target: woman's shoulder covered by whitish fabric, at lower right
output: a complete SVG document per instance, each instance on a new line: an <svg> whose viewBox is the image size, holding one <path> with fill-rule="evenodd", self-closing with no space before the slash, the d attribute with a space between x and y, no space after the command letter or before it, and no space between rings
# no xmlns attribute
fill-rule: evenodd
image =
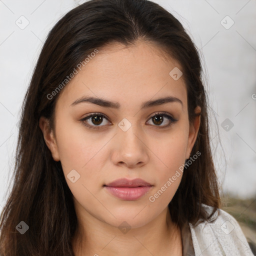
<svg viewBox="0 0 256 256"><path fill-rule="evenodd" d="M202 206L207 212L212 211L211 206L205 204ZM195 226L189 223L195 256L253 256L246 238L233 216L218 209L212 219L215 220L203 221Z"/></svg>

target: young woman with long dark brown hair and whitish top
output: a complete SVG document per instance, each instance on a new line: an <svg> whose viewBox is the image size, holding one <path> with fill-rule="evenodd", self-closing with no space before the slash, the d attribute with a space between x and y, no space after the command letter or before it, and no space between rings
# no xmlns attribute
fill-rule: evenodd
<svg viewBox="0 0 256 256"><path fill-rule="evenodd" d="M0 254L252 255L219 209L196 48L145 0L52 28L26 92Z"/></svg>

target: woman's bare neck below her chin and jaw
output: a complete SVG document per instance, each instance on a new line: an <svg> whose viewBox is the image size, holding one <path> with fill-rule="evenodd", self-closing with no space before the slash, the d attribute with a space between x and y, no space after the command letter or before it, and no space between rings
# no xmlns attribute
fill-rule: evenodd
<svg viewBox="0 0 256 256"><path fill-rule="evenodd" d="M79 228L72 242L75 256L182 254L180 229L172 222L167 207L151 222L126 233L95 218L86 225L77 220Z"/></svg>

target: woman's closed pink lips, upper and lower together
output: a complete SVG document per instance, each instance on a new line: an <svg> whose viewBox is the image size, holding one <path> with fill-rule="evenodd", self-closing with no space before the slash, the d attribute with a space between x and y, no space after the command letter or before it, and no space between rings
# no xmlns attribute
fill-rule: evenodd
<svg viewBox="0 0 256 256"><path fill-rule="evenodd" d="M120 178L104 185L108 192L123 200L136 200L149 191L151 187L150 183L140 178Z"/></svg>

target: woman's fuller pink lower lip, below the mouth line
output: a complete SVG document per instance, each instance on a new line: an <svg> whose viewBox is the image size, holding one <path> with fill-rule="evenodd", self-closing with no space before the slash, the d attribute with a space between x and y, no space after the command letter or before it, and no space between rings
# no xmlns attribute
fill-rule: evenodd
<svg viewBox="0 0 256 256"><path fill-rule="evenodd" d="M136 200L150 190L152 186L136 186L136 187L114 187L104 186L112 195L123 200Z"/></svg>

